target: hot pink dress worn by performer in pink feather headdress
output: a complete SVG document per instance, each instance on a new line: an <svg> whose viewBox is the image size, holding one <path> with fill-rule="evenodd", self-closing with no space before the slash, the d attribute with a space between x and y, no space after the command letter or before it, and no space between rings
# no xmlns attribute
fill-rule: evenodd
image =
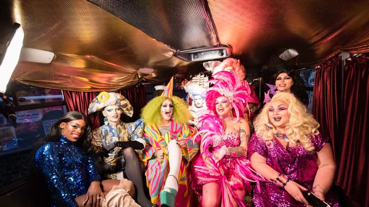
<svg viewBox="0 0 369 207"><path fill-rule="evenodd" d="M240 134L233 131L220 136L213 136L209 145L209 152L212 153L223 145L235 147L240 145ZM207 154L205 154L207 156ZM209 159L210 156L207 156ZM207 158L207 160L209 160ZM213 165L214 166L214 165ZM237 206L246 206L236 194L236 190L246 190L250 193L252 186L250 181L255 181L257 177L252 169L250 161L246 157L224 156L215 167L206 165L201 154L199 154L192 163L191 181L195 192L202 195L204 184L215 182L221 185L222 206L232 206L232 200L235 200ZM256 178L258 179L258 178Z"/></svg>

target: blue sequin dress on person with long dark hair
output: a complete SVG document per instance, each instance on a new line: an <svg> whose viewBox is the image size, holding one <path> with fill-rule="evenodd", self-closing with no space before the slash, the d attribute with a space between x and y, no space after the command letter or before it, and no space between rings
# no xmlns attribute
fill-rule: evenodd
<svg viewBox="0 0 369 207"><path fill-rule="evenodd" d="M100 181L91 157L63 135L36 151L35 167L47 182L53 206L78 206L74 198L86 194L92 181Z"/></svg>

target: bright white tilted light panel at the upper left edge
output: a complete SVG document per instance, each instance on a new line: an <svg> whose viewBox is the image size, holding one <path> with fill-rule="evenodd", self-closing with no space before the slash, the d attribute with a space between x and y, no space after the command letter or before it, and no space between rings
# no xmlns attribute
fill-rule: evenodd
<svg viewBox="0 0 369 207"><path fill-rule="evenodd" d="M10 77L17 66L25 33L21 24L14 23L12 35L0 55L0 92L5 93Z"/></svg>

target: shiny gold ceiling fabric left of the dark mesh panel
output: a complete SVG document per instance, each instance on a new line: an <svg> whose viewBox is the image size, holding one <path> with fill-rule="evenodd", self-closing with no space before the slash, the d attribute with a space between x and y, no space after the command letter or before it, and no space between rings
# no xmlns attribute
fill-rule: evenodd
<svg viewBox="0 0 369 207"><path fill-rule="evenodd" d="M10 15L3 28L11 28L12 21L21 23L25 47L56 54L50 64L20 61L12 80L22 83L118 90L141 79L164 80L188 64L173 56L174 49L86 0L4 0L0 11ZM154 72L143 76L136 72L141 67Z"/></svg>

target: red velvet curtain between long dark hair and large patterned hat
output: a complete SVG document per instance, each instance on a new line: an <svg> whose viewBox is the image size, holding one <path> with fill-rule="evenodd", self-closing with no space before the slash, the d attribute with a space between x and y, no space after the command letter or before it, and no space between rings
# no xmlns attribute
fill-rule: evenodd
<svg viewBox="0 0 369 207"><path fill-rule="evenodd" d="M87 109L90 102L96 97L95 92L63 90L63 94L68 111L80 111L85 115L87 115ZM98 113L87 115L87 117L90 120L91 129L100 126Z"/></svg>

